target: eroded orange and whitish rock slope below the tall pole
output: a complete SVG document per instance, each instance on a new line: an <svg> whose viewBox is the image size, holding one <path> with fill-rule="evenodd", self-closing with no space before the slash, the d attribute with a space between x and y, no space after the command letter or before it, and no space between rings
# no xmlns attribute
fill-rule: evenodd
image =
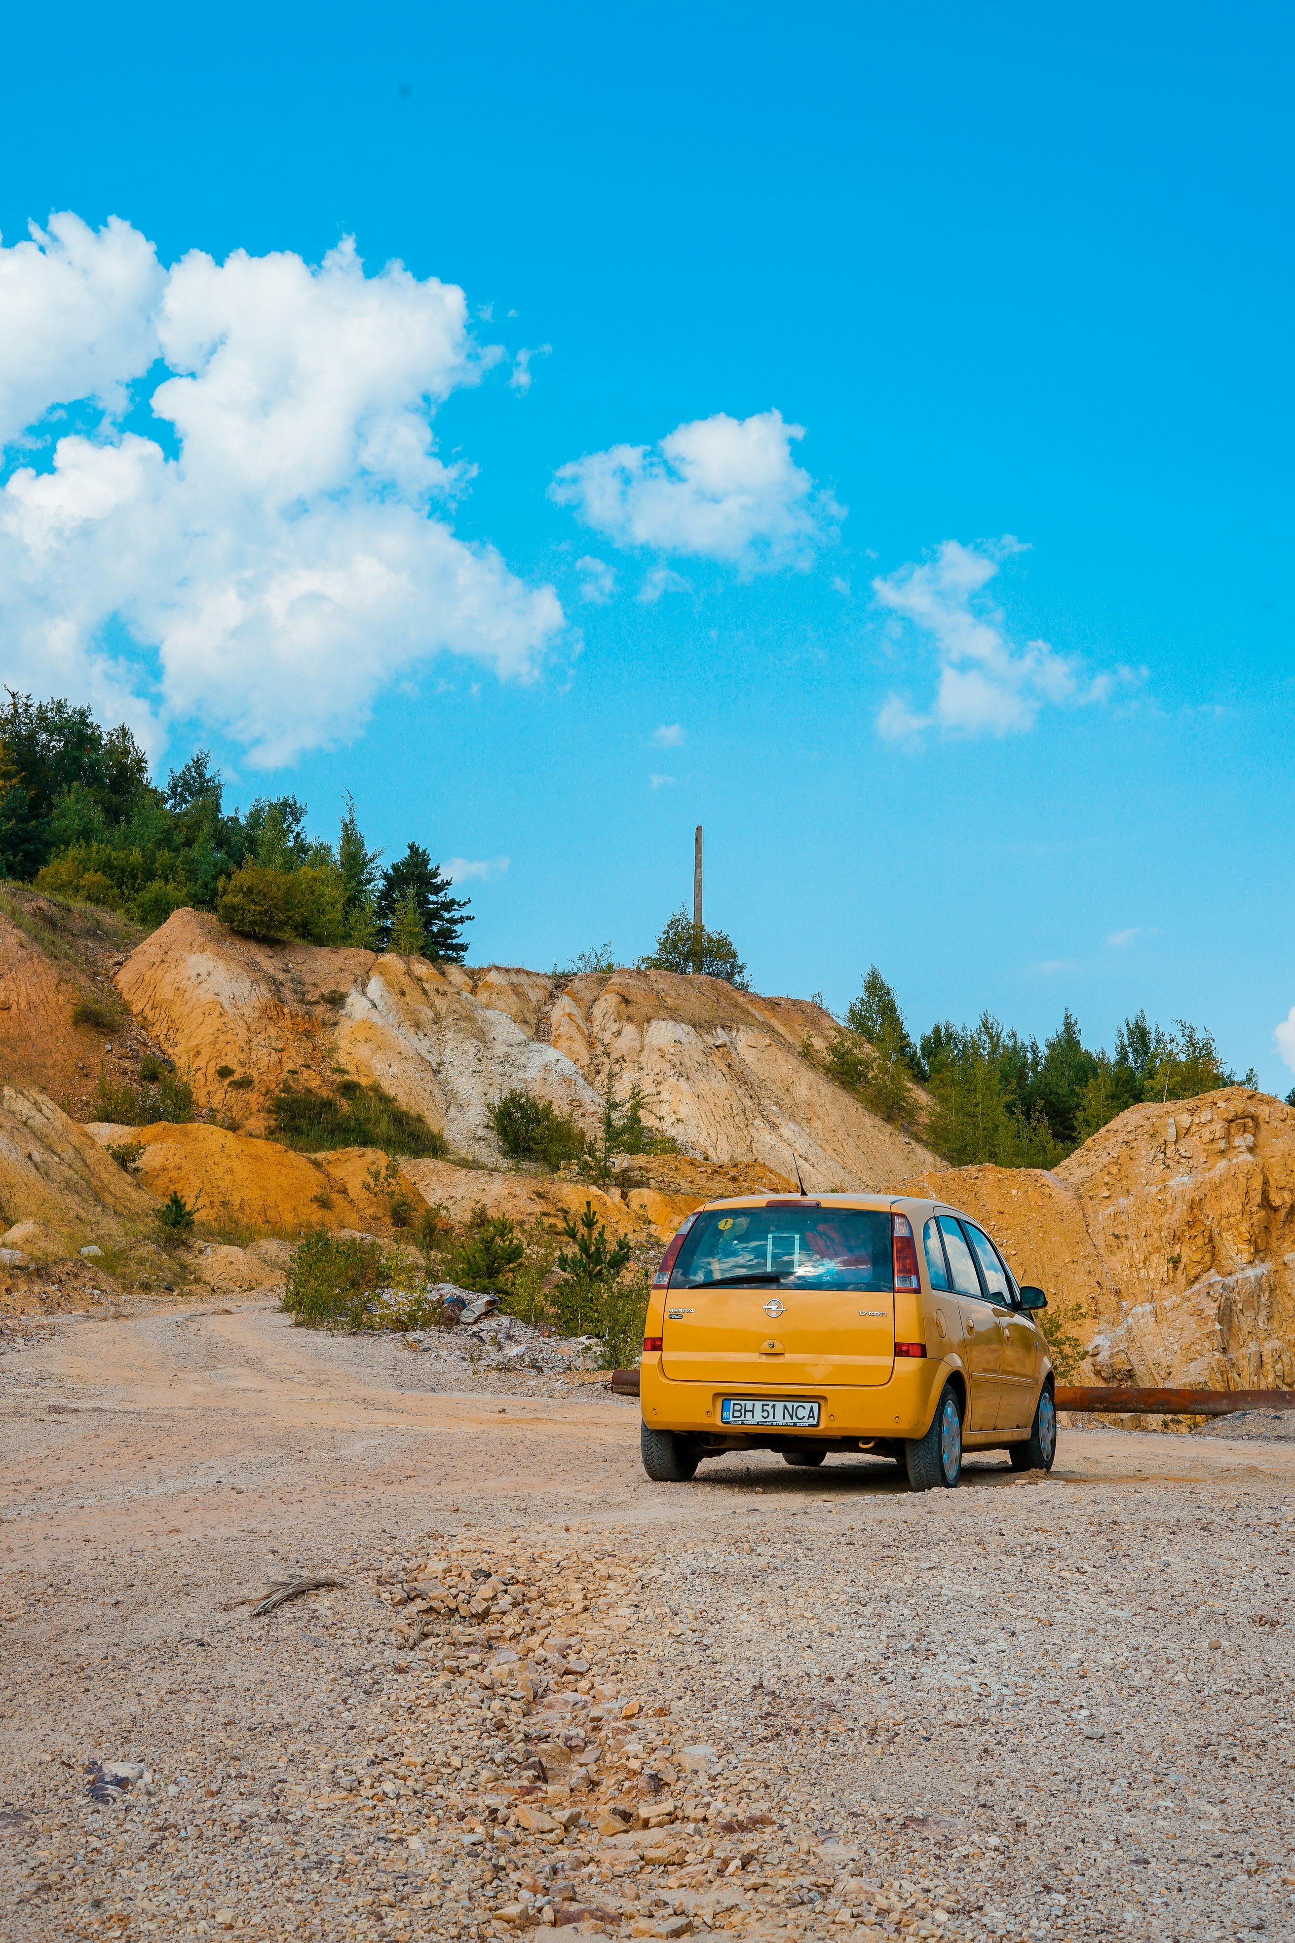
<svg viewBox="0 0 1295 1943"><path fill-rule="evenodd" d="M478 1162L497 1162L487 1108L524 1086L600 1117L608 1069L643 1086L645 1119L685 1154L759 1166L819 1189L885 1187L934 1154L864 1111L798 1051L833 1022L800 999L759 999L666 972L561 979L421 958L256 944L177 911L118 972L134 1016L200 1104L249 1131L285 1080L377 1080ZM233 1078L221 1078L221 1067ZM239 1082L250 1080L245 1090Z"/></svg>

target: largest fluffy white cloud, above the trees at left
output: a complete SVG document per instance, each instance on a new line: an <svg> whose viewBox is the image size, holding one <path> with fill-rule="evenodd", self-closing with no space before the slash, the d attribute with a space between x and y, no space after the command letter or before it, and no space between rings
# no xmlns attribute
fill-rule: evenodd
<svg viewBox="0 0 1295 1943"><path fill-rule="evenodd" d="M144 690L280 764L433 655L528 678L563 628L450 527L470 470L433 414L499 356L452 284L365 276L349 241L163 270L128 223L58 216L0 247L0 344L8 680L132 721ZM122 429L159 361L165 449ZM70 404L83 429L54 437Z"/></svg>

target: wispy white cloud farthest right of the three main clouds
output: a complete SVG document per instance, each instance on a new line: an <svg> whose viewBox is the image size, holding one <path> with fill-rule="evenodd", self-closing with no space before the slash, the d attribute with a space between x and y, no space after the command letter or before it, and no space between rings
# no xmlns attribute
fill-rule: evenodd
<svg viewBox="0 0 1295 1943"><path fill-rule="evenodd" d="M949 736L1010 734L1033 729L1045 703L1107 701L1116 682L1132 680L1130 668L1085 678L1083 665L1058 655L1046 641L1017 647L1004 631L1002 614L980 600L1000 563L1025 552L1006 534L994 546L961 546L946 540L934 560L913 562L872 589L895 616L893 637L907 622L936 649L936 694L926 709L891 694L878 711L878 733L891 742L916 742L936 729Z"/></svg>

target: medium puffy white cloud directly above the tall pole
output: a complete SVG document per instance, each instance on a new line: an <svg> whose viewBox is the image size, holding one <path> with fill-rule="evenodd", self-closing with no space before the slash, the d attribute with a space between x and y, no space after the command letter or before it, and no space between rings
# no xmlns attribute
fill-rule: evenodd
<svg viewBox="0 0 1295 1943"><path fill-rule="evenodd" d="M658 447L614 445L559 468L549 497L615 546L718 560L757 573L808 567L843 509L792 462L780 412L699 418Z"/></svg>

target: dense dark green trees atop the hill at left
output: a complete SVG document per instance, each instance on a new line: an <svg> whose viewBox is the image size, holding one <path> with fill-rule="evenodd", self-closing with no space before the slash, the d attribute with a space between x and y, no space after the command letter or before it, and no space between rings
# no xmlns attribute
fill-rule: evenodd
<svg viewBox="0 0 1295 1943"><path fill-rule="evenodd" d="M8 690L0 711L0 874L153 929L192 905L260 938L355 944L462 962L470 900L421 843L381 869L346 799L338 841L307 835L297 797L225 808L198 750L165 787L130 729Z"/></svg>

